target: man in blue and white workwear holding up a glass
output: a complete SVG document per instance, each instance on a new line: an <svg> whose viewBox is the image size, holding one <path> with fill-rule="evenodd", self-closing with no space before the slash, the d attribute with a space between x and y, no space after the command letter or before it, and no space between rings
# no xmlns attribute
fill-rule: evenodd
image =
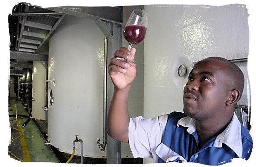
<svg viewBox="0 0 256 167"><path fill-rule="evenodd" d="M235 64L219 57L199 61L184 87L184 113L143 119L128 115L129 90L136 76L134 59L135 48L121 47L109 64L115 85L108 111L110 136L129 143L134 157L151 157L155 163L221 165L233 158L248 160L252 138L234 114L244 85L243 72Z"/></svg>

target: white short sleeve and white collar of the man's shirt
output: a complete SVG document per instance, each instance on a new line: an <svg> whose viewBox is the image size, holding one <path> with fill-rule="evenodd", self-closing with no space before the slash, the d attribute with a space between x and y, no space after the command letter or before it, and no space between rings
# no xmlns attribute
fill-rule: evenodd
<svg viewBox="0 0 256 167"><path fill-rule="evenodd" d="M154 119L144 119L141 116L130 118L129 145L135 158L153 158L154 163L158 162L157 148L161 144L167 119L168 114ZM189 134L196 130L195 120L188 116L181 118L177 122L177 126L188 127L187 132ZM216 137L214 146L220 148L222 143L229 146L238 157L242 157L241 124L235 114L228 127Z"/></svg>

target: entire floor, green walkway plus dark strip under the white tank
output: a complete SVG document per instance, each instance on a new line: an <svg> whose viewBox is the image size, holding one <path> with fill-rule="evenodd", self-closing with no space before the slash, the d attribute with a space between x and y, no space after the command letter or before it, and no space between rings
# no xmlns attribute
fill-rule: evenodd
<svg viewBox="0 0 256 167"><path fill-rule="evenodd" d="M26 162L66 163L71 156L71 154L60 152L51 145L45 145L47 139L47 122L29 119L27 110L15 98L10 99L9 121L11 127L9 155L11 158ZM74 155L69 163L81 163L81 157ZM83 163L106 164L106 159L83 157ZM121 159L121 163L142 164L143 159L123 158Z"/></svg>

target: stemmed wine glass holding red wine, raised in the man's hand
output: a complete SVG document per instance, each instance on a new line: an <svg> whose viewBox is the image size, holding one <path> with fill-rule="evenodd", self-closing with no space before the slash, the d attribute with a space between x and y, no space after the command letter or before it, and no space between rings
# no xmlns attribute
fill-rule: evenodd
<svg viewBox="0 0 256 167"><path fill-rule="evenodd" d="M131 13L123 31L124 38L128 41L128 50L132 49L132 45L140 44L146 35L148 27L148 14L141 9L134 9ZM128 61L124 58L117 58L123 61ZM134 63L135 62L131 62Z"/></svg>

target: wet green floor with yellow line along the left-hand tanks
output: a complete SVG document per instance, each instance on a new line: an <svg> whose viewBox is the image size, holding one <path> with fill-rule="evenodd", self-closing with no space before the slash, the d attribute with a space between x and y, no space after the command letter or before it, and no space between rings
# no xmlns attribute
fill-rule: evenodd
<svg viewBox="0 0 256 167"><path fill-rule="evenodd" d="M16 117L17 116L17 117ZM29 120L27 110L15 99L10 100L9 121L11 127L10 157L18 161L57 162L60 161L52 149L45 146L45 138L32 119ZM26 121L27 124L22 127Z"/></svg>

